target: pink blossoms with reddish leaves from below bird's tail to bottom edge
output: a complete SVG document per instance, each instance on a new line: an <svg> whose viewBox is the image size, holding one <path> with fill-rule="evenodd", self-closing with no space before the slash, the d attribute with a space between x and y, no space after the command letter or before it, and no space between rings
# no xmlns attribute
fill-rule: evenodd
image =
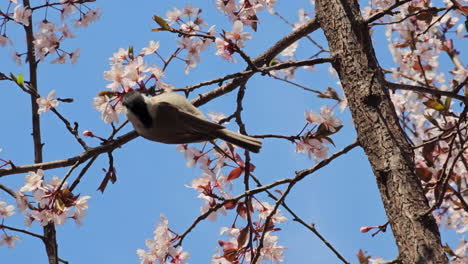
<svg viewBox="0 0 468 264"><path fill-rule="evenodd" d="M259 253L259 262L261 260L281 262L285 248L278 244L278 237L274 235L274 232L279 230L275 225L286 221L281 211L274 210L273 205L254 197L252 197L253 202L222 203L226 201L223 199L232 198L230 192L235 179L247 169L245 161L236 153L235 147L221 142L213 151L203 151L186 144L178 145L177 149L184 154L187 166L198 165L203 171L189 186L199 193L198 198L204 202L200 208L201 214L208 214L208 219L214 221L219 214L227 215L230 210L235 209L236 214L242 219L250 218L253 222L250 232L247 231L248 228L234 227L235 224L230 228L222 228L221 234L227 234L230 239L219 241L222 250L217 250L217 253L213 255L212 263L238 263L239 259L250 262L254 256L252 254L257 252L254 244L260 243L262 233L264 233L263 247ZM229 168L229 173L225 173L227 168ZM250 173L255 171L254 164L249 164L249 171ZM257 217L256 221L253 220L255 217ZM268 223L267 218L270 219ZM248 244L249 235L252 236L254 244Z"/></svg>

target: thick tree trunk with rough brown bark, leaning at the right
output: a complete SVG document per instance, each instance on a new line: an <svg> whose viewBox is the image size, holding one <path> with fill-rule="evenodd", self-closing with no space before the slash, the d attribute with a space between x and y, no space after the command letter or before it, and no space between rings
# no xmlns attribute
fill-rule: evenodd
<svg viewBox="0 0 468 264"><path fill-rule="evenodd" d="M413 151L398 123L357 1L316 0L358 140L380 190L404 264L448 263L438 227L415 174Z"/></svg>

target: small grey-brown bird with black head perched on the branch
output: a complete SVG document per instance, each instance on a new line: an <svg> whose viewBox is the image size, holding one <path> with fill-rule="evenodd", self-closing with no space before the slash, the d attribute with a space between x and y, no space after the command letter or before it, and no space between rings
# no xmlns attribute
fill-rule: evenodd
<svg viewBox="0 0 468 264"><path fill-rule="evenodd" d="M183 95L173 92L148 97L138 91L123 96L124 113L138 134L166 144L186 144L216 138L258 153L262 142L210 122Z"/></svg>

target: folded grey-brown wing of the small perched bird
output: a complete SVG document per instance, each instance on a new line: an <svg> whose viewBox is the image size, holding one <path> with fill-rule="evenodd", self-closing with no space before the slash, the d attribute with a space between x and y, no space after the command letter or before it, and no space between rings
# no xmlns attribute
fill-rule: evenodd
<svg viewBox="0 0 468 264"><path fill-rule="evenodd" d="M193 114L180 111L177 107L167 102L157 104L157 117L163 117L164 120L157 120L156 124L166 123L177 128L183 128L183 133L193 134L211 134L213 130L223 129L224 126L199 118Z"/></svg>

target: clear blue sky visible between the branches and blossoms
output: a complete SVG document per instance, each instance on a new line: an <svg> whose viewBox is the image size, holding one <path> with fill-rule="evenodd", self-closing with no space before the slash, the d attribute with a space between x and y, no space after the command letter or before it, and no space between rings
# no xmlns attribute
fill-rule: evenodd
<svg viewBox="0 0 468 264"><path fill-rule="evenodd" d="M186 1L97 1L93 7L102 9L102 16L96 23L85 29L74 31L76 38L68 40L63 48L73 51L81 48L81 56L75 65L56 65L48 62L39 66L39 90L46 95L56 90L57 96L74 98L73 103L61 103L59 111L71 121L79 123L80 131L90 129L96 135L107 136L111 129L100 119L93 109L92 99L105 90L107 82L103 72L109 69L108 58L119 48L134 46L140 50L150 40L161 42L160 52L169 55L176 48L176 36L160 32L152 33L156 27L151 17L164 16L173 7L183 8ZM213 1L192 1L195 7L203 8L203 17L209 24L216 24L218 31L231 30L230 22L215 10ZM292 22L297 21L297 9L303 7L311 12L309 1L278 1L276 9ZM2 5L3 8L3 5ZM245 52L255 57L271 46L276 40L290 32L291 28L268 12L260 15L261 23L253 39L248 41ZM36 19L37 21L37 19ZM247 29L250 31L250 29ZM15 47L21 50L24 39L21 28L9 26L7 34L12 37ZM11 35L10 35L11 34ZM391 65L388 52L385 52L385 39L377 32L378 56L384 66ZM321 31L312 34L314 39L325 45ZM0 48L0 72L27 74L26 67L17 67L10 60L12 48ZM308 42L300 43L299 56L306 58L315 53ZM202 55L199 66L186 75L183 63L176 62L168 68L165 81L181 88L197 84L227 73L241 71L246 67L239 63L228 63L214 55L214 48ZM155 59L155 62L157 60ZM336 79L328 74L328 65L318 67L316 72L299 70L295 81L310 88L324 90L328 86L337 88ZM216 86L200 89L192 94L209 91ZM338 88L337 88L338 89ZM33 161L32 139L30 136L29 97L18 88L6 82L0 83L2 92L0 113L0 157L11 159L15 164L30 164ZM231 93L213 100L201 109L230 114L235 109L236 94ZM305 124L304 111L319 111L323 104L333 102L318 99L314 94L264 76L255 76L247 84L244 121L251 134L294 135ZM333 137L336 148L330 154L350 144L355 139L349 111L340 113L344 128ZM63 125L50 112L41 116L44 147L44 160L56 160L75 156L81 148L68 134ZM122 116L122 120L124 117ZM237 127L233 122L229 125ZM125 131L129 131L127 127ZM99 142L86 139L91 146ZM169 219L170 227L182 233L199 215L202 201L197 193L185 187L201 171L185 166L183 155L175 146L149 142L137 138L114 151L118 181L107 187L104 194L96 191L107 168L105 155L89 170L77 188L81 195L90 195L88 216L81 227L69 222L57 227L60 257L70 263L137 263L136 249L145 248L145 239L152 237L160 214ZM294 146L278 139L264 140L260 154L253 155L252 162L257 166L256 176L269 183L284 177L291 177L294 171L314 165L307 155L294 152ZM46 177L63 177L66 169L50 170ZM0 183L18 189L25 174L0 178ZM76 177L76 175L72 175ZM241 182L236 182L241 184ZM268 198L259 196L266 199ZM0 198L13 203L4 193ZM397 255L396 246L390 232L371 237L361 234L359 228L365 225L378 225L387 221L377 185L366 156L359 148L333 161L326 168L308 176L298 184L286 202L308 223L315 223L319 232L334 245L348 261L357 262L359 249L373 256L393 259ZM285 215L288 219L291 216ZM219 229L230 226L234 214L221 217L216 222L204 221L184 241L184 250L190 252L189 263L208 263L218 246L217 241L226 239L219 235ZM15 215L5 224L23 227L22 215ZM285 263L339 263L311 232L291 221L282 224L278 232L279 241L288 248ZM32 232L41 233L34 223ZM444 241L455 245L457 240L451 232L443 231ZM35 238L20 235L22 241L16 248L0 248L0 263L47 263L44 247Z"/></svg>

